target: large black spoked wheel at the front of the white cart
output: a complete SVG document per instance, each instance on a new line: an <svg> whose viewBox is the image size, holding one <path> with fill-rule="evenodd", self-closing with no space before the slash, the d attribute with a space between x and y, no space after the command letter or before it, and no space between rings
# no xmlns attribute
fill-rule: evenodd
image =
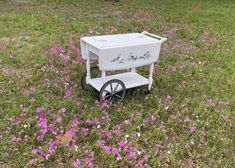
<svg viewBox="0 0 235 168"><path fill-rule="evenodd" d="M106 82L100 90L100 101L120 102L126 95L126 86L118 79Z"/></svg>

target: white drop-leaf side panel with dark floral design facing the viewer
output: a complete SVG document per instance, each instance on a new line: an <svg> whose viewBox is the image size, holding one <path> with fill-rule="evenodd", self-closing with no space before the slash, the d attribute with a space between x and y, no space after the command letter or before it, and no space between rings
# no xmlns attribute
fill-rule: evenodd
<svg viewBox="0 0 235 168"><path fill-rule="evenodd" d="M101 71L121 70L154 63L161 43L102 49L99 52Z"/></svg>

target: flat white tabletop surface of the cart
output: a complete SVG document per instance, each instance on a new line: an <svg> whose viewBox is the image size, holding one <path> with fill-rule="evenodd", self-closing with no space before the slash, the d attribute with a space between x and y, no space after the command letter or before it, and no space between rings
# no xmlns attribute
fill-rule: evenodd
<svg viewBox="0 0 235 168"><path fill-rule="evenodd" d="M82 37L81 40L98 49L161 43L161 40L141 33Z"/></svg>

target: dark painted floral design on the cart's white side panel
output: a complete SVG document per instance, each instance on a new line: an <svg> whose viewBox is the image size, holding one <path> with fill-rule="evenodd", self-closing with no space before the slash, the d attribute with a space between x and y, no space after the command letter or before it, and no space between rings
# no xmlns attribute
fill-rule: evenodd
<svg viewBox="0 0 235 168"><path fill-rule="evenodd" d="M129 53L129 56L128 58L123 58L122 57L122 54L118 54L118 56L114 59L112 59L110 62L111 63L119 63L119 64L122 64L122 63L125 63L125 62L135 62L137 60L140 60L140 59L149 59L150 57L152 57L152 55L149 53L149 51L147 51L146 53L144 53L143 55L140 55L140 56L136 56L134 55L133 53Z"/></svg>

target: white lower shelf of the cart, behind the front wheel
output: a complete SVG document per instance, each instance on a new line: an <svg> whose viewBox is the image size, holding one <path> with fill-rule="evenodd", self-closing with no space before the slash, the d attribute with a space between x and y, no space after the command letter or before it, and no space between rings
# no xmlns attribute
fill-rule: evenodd
<svg viewBox="0 0 235 168"><path fill-rule="evenodd" d="M102 86L106 82L112 79L121 80L125 84L126 89L149 84L149 80L147 78L135 72L126 72L126 73L106 76L105 78L93 78L89 81L89 84L93 86L96 90L100 91Z"/></svg>

